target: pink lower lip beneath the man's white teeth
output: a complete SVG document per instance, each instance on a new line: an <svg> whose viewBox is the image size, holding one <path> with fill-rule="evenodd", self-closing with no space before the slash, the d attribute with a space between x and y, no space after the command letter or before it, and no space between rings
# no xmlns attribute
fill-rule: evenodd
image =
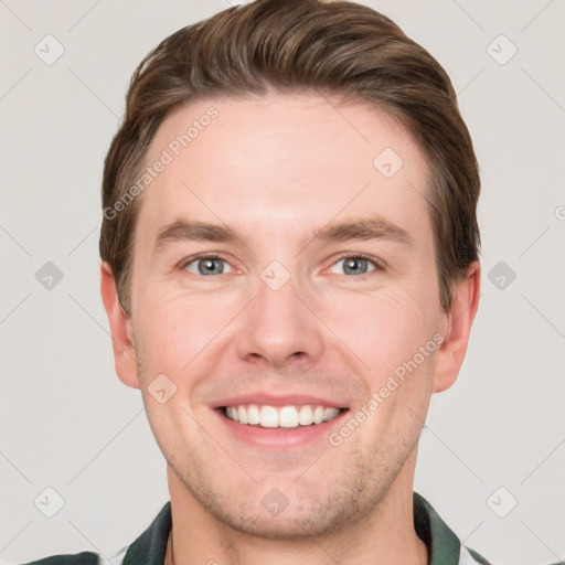
<svg viewBox="0 0 565 565"><path fill-rule="evenodd" d="M223 422L224 426L238 439L260 447L285 448L303 446L321 437L327 438L332 428L335 428L335 425L339 426L342 418L348 413L348 411L342 411L335 418L329 422L312 424L310 426L299 426L296 428L263 428L260 426L239 424L238 422L225 417L220 409L215 409L214 412Z"/></svg>

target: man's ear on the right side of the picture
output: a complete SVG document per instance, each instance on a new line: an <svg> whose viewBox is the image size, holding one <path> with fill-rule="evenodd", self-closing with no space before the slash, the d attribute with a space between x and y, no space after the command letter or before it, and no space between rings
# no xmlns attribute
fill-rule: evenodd
<svg viewBox="0 0 565 565"><path fill-rule="evenodd" d="M434 392L449 388L456 381L467 351L472 321L479 307L481 267L473 262L465 278L452 289L451 308L444 315L444 341L436 354Z"/></svg>

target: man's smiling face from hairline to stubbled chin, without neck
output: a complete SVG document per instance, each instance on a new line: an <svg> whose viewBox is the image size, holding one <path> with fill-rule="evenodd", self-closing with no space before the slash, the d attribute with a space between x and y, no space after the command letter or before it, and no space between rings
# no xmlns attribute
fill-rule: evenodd
<svg viewBox="0 0 565 565"><path fill-rule="evenodd" d="M316 95L201 100L161 125L157 161L117 367L171 490L267 536L412 493L449 329L412 137Z"/></svg>

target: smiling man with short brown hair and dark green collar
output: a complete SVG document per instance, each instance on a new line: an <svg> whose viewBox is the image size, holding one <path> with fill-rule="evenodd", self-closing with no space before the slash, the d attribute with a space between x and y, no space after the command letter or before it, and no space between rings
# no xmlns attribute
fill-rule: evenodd
<svg viewBox="0 0 565 565"><path fill-rule="evenodd" d="M413 493L477 312L479 186L445 71L369 8L256 0L146 57L102 296L171 500L115 565L487 563Z"/></svg>

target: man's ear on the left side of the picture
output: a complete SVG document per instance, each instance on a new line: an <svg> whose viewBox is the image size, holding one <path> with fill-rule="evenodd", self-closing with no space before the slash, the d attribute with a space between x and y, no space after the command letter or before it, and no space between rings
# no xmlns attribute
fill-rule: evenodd
<svg viewBox="0 0 565 565"><path fill-rule="evenodd" d="M139 388L131 319L121 309L116 280L108 263L102 263L100 275L100 294L110 323L116 373L125 384Z"/></svg>

